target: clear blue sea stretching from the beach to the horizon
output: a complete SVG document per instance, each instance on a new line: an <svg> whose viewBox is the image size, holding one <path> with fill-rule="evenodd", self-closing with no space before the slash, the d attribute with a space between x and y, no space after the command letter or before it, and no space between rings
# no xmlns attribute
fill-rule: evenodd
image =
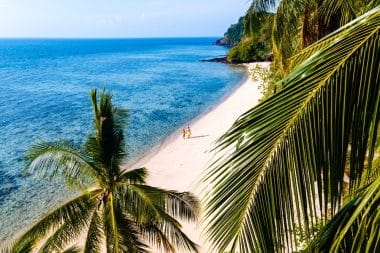
<svg viewBox="0 0 380 253"><path fill-rule="evenodd" d="M73 194L59 180L24 175L28 146L80 145L92 130L89 91L105 87L130 110L126 139L137 159L244 78L239 67L200 61L226 54L215 40L0 40L0 242Z"/></svg>

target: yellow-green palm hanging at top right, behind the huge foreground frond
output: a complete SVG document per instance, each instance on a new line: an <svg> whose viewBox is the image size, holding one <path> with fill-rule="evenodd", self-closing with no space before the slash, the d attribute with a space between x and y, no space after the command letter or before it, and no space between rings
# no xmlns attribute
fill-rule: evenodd
<svg viewBox="0 0 380 253"><path fill-rule="evenodd" d="M291 70L290 58L299 50L379 4L379 0L252 0L247 18L277 7L273 54L276 68L284 77Z"/></svg>

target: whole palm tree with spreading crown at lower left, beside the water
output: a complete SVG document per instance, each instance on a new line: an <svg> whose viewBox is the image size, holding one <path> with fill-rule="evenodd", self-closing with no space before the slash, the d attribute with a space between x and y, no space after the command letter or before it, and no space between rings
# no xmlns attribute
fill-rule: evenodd
<svg viewBox="0 0 380 253"><path fill-rule="evenodd" d="M195 221L198 202L188 192L146 185L147 169L124 170L123 127L127 111L111 103L104 90L91 91L94 132L81 147L66 141L42 142L27 153L27 171L64 177L81 194L46 214L14 244L13 252L32 246L60 252L85 235L83 252L197 251L177 218ZM20 246L21 245L21 246ZM26 246L23 246L26 245ZM75 248L68 252L77 251Z"/></svg>

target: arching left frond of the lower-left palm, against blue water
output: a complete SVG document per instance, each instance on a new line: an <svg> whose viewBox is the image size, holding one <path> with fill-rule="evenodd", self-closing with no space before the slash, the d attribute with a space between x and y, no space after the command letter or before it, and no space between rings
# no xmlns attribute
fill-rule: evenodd
<svg viewBox="0 0 380 253"><path fill-rule="evenodd" d="M82 185L85 180L102 177L91 159L66 141L34 144L29 148L26 160L27 173L49 178L63 176L71 184Z"/></svg>

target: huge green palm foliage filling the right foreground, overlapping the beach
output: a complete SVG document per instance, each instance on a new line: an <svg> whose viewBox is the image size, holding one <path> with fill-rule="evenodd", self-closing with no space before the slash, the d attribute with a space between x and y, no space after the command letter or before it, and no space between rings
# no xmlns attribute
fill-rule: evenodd
<svg viewBox="0 0 380 253"><path fill-rule="evenodd" d="M295 55L284 88L219 140L216 150L229 154L204 179L215 251L299 250L301 226L315 238L310 251L378 252L379 30L376 7ZM331 220L314 236L320 219Z"/></svg>

